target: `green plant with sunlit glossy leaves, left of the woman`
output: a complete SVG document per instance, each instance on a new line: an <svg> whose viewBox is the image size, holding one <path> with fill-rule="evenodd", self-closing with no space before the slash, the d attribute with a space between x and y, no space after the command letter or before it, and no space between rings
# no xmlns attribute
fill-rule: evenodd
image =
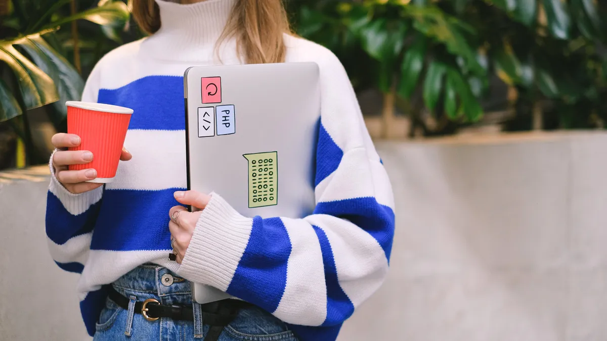
<svg viewBox="0 0 607 341"><path fill-rule="evenodd" d="M0 16L0 122L13 126L30 158L35 150L27 116L22 114L52 104L47 112L59 125L66 116L64 103L80 99L84 86L78 70L59 52L64 50L61 27L84 19L101 25L108 39L116 40L117 31L129 21L122 1L101 0L78 13L70 13L69 4L70 0L13 0L7 15ZM77 39L77 30L69 39Z"/></svg>

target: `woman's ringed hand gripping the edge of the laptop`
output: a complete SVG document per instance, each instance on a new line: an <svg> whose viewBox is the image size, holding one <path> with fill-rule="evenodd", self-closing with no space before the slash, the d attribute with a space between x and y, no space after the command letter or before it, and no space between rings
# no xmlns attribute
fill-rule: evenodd
<svg viewBox="0 0 607 341"><path fill-rule="evenodd" d="M206 204L211 200L211 195L203 194L196 191L185 191L175 192L175 200L185 205L191 205L192 207L198 208L201 211L188 212L183 206L174 206L169 211L169 230L171 231L171 240L174 238L175 241L172 243L173 250L177 254L177 263L181 264L183 257L188 249L189 242L192 240L194 235L194 229L202 210L205 209Z"/></svg>

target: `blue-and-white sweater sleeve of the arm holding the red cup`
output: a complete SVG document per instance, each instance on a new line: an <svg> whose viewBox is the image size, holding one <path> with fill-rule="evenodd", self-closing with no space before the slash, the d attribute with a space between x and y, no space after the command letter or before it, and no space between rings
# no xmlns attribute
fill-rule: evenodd
<svg viewBox="0 0 607 341"><path fill-rule="evenodd" d="M84 86L83 101L97 102L98 76L97 69L93 69ZM103 195L103 186L81 194L67 191L55 177L53 155L50 156L49 162L51 177L46 203L46 235L49 251L60 268L81 273L89 255L90 240Z"/></svg>

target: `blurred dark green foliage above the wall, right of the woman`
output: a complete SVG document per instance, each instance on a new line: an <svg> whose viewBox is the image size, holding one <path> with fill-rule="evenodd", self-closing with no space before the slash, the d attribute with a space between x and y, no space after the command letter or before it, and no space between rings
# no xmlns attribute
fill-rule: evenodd
<svg viewBox="0 0 607 341"><path fill-rule="evenodd" d="M456 122L483 115L498 76L518 90L510 129L607 120L607 3L594 0L319 0L291 3L295 28L333 50L357 90L422 99ZM295 8L298 7L298 8Z"/></svg>

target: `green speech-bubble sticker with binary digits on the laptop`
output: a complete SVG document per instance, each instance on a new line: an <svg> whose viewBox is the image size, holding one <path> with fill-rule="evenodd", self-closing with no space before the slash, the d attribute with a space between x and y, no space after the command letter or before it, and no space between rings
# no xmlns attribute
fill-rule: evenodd
<svg viewBox="0 0 607 341"><path fill-rule="evenodd" d="M278 153L266 152L242 156L249 164L249 208L277 204Z"/></svg>

